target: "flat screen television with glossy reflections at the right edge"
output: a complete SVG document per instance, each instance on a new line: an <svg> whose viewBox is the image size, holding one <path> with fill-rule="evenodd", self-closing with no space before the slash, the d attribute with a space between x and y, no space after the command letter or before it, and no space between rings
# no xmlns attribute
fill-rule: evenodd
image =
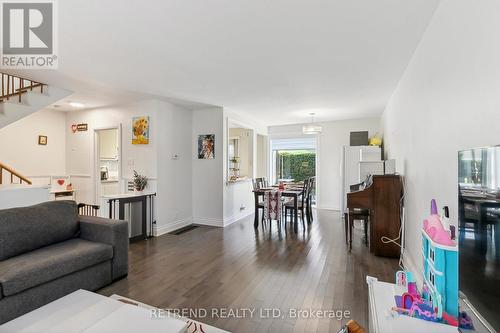
<svg viewBox="0 0 500 333"><path fill-rule="evenodd" d="M500 146L458 153L460 310L500 332Z"/></svg>

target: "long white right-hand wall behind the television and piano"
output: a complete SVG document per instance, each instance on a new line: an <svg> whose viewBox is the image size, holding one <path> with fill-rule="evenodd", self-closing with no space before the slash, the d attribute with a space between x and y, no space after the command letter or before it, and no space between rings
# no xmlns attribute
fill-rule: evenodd
<svg viewBox="0 0 500 333"><path fill-rule="evenodd" d="M383 116L406 181L405 261L422 269L429 202L457 219L457 151L500 144L500 2L443 0Z"/></svg>

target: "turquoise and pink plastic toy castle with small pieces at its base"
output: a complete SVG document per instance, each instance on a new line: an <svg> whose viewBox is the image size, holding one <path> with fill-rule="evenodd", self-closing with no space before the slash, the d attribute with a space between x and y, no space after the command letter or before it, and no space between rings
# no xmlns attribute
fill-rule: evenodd
<svg viewBox="0 0 500 333"><path fill-rule="evenodd" d="M446 221L443 225L436 201L432 200L431 215L424 220L422 228L422 293L412 278L408 280L412 277L410 272L397 272L396 284L406 287L407 292L395 296L393 310L423 320L459 325L458 247L452 234L450 223Z"/></svg>

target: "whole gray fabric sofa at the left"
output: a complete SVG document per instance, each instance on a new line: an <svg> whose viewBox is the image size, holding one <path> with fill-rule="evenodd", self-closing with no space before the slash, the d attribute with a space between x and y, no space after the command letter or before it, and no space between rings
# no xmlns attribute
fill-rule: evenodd
<svg viewBox="0 0 500 333"><path fill-rule="evenodd" d="M128 223L79 216L73 201L0 210L0 324L128 273Z"/></svg>

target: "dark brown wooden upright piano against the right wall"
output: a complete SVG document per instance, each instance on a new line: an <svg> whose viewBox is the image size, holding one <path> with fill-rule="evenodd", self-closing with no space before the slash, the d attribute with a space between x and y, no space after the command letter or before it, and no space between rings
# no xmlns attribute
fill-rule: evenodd
<svg viewBox="0 0 500 333"><path fill-rule="evenodd" d="M370 212L370 252L377 256L399 257L400 247L392 242L382 242L382 237L401 244L401 198L403 184L399 175L370 176L358 191L347 193L347 208L367 209Z"/></svg>

